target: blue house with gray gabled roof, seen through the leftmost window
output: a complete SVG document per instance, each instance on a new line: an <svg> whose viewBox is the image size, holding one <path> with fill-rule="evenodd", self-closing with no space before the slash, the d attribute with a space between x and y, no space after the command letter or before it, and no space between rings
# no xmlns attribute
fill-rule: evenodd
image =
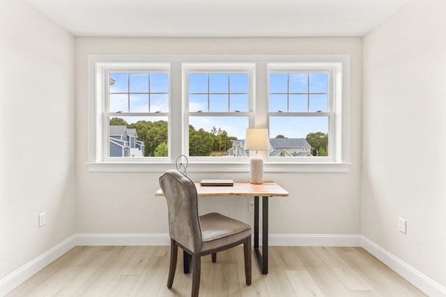
<svg viewBox="0 0 446 297"><path fill-rule="evenodd" d="M137 141L137 130L123 125L109 126L109 156L144 156L144 142Z"/></svg>

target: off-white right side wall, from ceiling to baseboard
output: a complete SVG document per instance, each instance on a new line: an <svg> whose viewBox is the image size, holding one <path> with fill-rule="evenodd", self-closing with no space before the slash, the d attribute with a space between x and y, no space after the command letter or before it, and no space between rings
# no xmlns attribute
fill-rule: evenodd
<svg viewBox="0 0 446 297"><path fill-rule="evenodd" d="M364 38L361 191L361 233L443 287L445 13L416 1Z"/></svg>

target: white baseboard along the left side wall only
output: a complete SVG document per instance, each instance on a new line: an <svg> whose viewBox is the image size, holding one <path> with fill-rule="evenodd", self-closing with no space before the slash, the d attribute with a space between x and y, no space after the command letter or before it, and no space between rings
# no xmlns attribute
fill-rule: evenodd
<svg viewBox="0 0 446 297"><path fill-rule="evenodd" d="M54 248L47 250L42 255L36 257L31 262L25 264L24 266L18 268L10 275L0 280L0 296L5 296L8 292L12 291L18 287L22 282L31 278L47 265L51 264L55 259L61 257L63 254L68 252L75 247L75 237L76 235L70 236L68 239L62 241Z"/></svg>

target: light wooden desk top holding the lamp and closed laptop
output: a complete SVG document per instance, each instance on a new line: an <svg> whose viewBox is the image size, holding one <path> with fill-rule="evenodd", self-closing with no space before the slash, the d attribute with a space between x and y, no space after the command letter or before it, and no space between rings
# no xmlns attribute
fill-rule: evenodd
<svg viewBox="0 0 446 297"><path fill-rule="evenodd" d="M234 182L233 186L201 186L194 183L199 196L288 196L288 192L275 182L263 182L263 184L250 184L249 182ZM163 196L162 190L155 193Z"/></svg>

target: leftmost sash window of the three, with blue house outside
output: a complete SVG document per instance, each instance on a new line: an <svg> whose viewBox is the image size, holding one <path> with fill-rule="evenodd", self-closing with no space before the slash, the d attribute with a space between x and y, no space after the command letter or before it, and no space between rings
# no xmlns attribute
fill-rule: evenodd
<svg viewBox="0 0 446 297"><path fill-rule="evenodd" d="M112 65L101 73L102 161L169 156L169 67Z"/></svg>

